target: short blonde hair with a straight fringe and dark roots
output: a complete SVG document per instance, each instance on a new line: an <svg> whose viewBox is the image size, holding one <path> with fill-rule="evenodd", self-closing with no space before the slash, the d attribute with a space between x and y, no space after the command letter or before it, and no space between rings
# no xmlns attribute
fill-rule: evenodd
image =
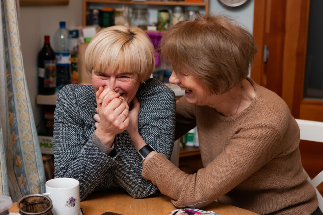
<svg viewBox="0 0 323 215"><path fill-rule="evenodd" d="M149 36L138 27L112 26L99 31L85 51L85 68L92 72L138 74L146 81L155 68L155 49Z"/></svg>

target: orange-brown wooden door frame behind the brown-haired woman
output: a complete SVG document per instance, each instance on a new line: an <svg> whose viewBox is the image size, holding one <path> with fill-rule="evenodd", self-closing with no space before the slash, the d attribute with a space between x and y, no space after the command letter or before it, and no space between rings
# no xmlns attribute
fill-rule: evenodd
<svg viewBox="0 0 323 215"><path fill-rule="evenodd" d="M271 10L271 5L276 3L275 0L254 0L253 36L258 54L251 69L251 78L261 86L267 87L267 75L273 75L277 79L275 84L281 86L274 90L270 88L273 86L267 88L275 91L285 100L295 118L323 121L323 101L303 98L310 0L286 0L285 2L285 5L281 5L285 8L277 8L275 4L276 7L273 9L280 10L278 17L281 20L279 21L276 17L271 17L276 16L276 11ZM279 58L274 62L276 66L271 66L271 74L266 74L268 65L264 63L263 58L264 45L269 41L266 38L268 37L266 32L270 30L270 21L284 24L284 29L279 31L279 34L283 32L283 35L280 35L283 43L278 43L279 47L276 47L276 53L279 53L277 50L282 51L281 55L275 56ZM271 50L273 47L269 47L269 59L273 58Z"/></svg>

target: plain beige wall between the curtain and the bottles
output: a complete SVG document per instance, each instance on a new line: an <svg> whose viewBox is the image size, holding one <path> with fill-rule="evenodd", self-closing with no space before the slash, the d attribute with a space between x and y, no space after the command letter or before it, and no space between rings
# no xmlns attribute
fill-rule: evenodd
<svg viewBox="0 0 323 215"><path fill-rule="evenodd" d="M20 7L19 34L23 65L26 73L30 101L36 126L42 119L42 106L36 105L38 86L37 55L44 45L44 35L53 37L60 21L66 21L66 27L82 25L82 0L69 0L68 6Z"/></svg>

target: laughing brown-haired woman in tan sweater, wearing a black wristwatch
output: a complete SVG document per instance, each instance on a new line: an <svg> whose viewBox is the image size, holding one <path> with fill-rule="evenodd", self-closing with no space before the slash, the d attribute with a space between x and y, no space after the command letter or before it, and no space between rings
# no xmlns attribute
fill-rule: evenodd
<svg viewBox="0 0 323 215"><path fill-rule="evenodd" d="M138 102L127 130L144 154L142 176L176 207L217 199L258 214L320 213L303 172L295 119L277 94L248 78L256 53L252 35L223 16L181 21L163 36L161 54L174 68L169 81L185 91L175 138L197 127L204 168L186 174L150 149L138 133Z"/></svg>

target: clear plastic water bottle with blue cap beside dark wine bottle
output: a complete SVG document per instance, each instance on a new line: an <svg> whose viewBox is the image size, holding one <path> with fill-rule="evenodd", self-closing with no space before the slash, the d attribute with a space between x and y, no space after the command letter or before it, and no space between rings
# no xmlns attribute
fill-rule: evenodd
<svg viewBox="0 0 323 215"><path fill-rule="evenodd" d="M59 23L59 29L54 35L54 51L56 55L56 91L71 83L69 31L65 21Z"/></svg>

